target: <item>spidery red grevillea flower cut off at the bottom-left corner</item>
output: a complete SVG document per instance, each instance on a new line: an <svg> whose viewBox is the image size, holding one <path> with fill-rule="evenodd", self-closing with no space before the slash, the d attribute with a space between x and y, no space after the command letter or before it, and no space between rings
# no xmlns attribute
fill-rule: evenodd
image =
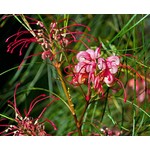
<svg viewBox="0 0 150 150"><path fill-rule="evenodd" d="M51 101L47 106L42 110L42 112L38 115L36 119L32 118L30 116L30 113L32 109L35 107L36 104L39 102L49 98L49 96L46 96L45 94L41 94L38 97L36 97L30 104L28 112L24 112L25 116L22 116L19 112L16 104L16 90L19 84L17 84L15 92L14 92L14 103L9 101L9 104L12 106L12 108L15 111L15 123L14 125L7 125L7 124L1 124L0 126L7 127L4 131L2 131L1 135L14 135L14 136L45 136L50 135L46 133L45 131L45 122L48 122L54 130L57 130L56 125L49 119L44 119L44 121L40 122L39 120L42 119L42 116L46 109L56 100L58 100L56 97L53 97L54 100Z"/></svg>

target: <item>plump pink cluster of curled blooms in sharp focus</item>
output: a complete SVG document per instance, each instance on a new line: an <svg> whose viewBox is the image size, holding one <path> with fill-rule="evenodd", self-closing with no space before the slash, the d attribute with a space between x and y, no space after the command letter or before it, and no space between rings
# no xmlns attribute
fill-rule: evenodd
<svg viewBox="0 0 150 150"><path fill-rule="evenodd" d="M92 49L80 51L76 58L78 63L73 70L73 84L87 83L90 88L92 83L98 93L103 93L104 83L109 87L114 84L115 74L120 64L118 56L104 59L100 55L100 48L97 48L95 51Z"/></svg>

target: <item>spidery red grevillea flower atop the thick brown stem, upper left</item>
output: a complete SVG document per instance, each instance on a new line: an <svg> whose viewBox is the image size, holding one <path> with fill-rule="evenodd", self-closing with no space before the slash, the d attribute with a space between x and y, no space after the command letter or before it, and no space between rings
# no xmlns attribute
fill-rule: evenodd
<svg viewBox="0 0 150 150"><path fill-rule="evenodd" d="M77 42L79 38L84 37L84 32L78 30L71 31L72 27L80 26L90 30L89 27L74 21L71 25L64 26L65 19L58 22L51 22L49 29L47 29L41 21L34 18L24 16L23 20L24 19L28 22L27 24L25 22L28 30L19 30L16 34L6 39L6 42L9 43L7 52L13 53L18 47L20 48L19 55L22 55L23 49L34 42L41 45L43 49L41 52L42 59L50 58L50 60L53 60L55 56L60 53L60 51L55 51L57 48L64 49L64 47L67 47L72 42ZM89 36L89 34L86 34L85 39L87 41L89 41Z"/></svg>

